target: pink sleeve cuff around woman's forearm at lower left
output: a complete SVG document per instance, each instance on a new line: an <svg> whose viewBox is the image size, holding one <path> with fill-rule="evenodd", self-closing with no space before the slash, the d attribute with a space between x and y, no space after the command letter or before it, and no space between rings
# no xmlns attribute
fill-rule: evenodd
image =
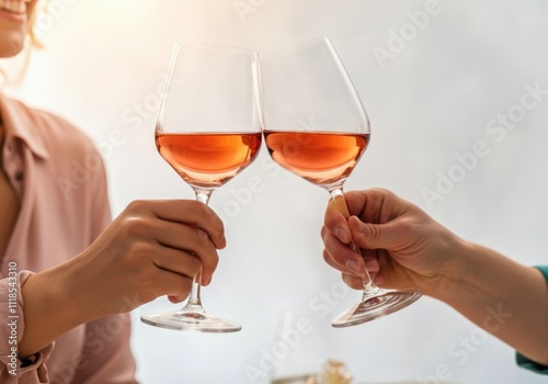
<svg viewBox="0 0 548 384"><path fill-rule="evenodd" d="M15 264L9 267L8 278L0 280L0 314L2 318L0 324L0 383L47 383L45 363L54 349L53 343L25 361L18 358L18 345L25 331L21 286L32 272L16 272Z"/></svg>

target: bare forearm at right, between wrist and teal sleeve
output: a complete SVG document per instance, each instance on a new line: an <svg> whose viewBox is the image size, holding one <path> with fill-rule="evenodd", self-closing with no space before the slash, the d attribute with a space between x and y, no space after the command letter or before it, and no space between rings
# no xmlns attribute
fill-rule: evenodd
<svg viewBox="0 0 548 384"><path fill-rule="evenodd" d="M548 285L538 270L463 241L454 269L432 296L548 365Z"/></svg>

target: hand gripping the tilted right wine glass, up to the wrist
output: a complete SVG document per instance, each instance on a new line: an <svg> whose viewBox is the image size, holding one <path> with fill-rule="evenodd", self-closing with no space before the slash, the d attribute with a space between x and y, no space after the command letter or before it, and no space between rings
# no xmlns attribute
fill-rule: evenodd
<svg viewBox="0 0 548 384"><path fill-rule="evenodd" d="M418 206L383 189L345 193L347 221L330 203L321 236L323 257L354 289L365 268L378 285L420 287L432 294L447 273L460 240ZM361 248L362 255L347 245Z"/></svg>

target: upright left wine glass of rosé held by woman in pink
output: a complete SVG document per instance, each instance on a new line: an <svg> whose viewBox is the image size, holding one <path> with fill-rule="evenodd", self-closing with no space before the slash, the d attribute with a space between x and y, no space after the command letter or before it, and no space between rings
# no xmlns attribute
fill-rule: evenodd
<svg viewBox="0 0 548 384"><path fill-rule="evenodd" d="M173 50L156 124L156 147L204 204L213 191L248 167L261 147L256 65L256 53L239 48L178 43ZM205 312L199 278L197 273L182 309L141 320L178 330L240 330L239 324Z"/></svg>

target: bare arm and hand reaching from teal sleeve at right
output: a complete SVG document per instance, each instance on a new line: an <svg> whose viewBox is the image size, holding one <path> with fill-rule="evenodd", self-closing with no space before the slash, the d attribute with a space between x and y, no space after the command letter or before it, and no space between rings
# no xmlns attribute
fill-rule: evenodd
<svg viewBox="0 0 548 384"><path fill-rule="evenodd" d="M540 271L460 239L418 206L375 189L345 195L349 221L326 211L324 259L361 289L365 266L378 285L420 287L522 354L548 365L548 284ZM362 255L346 246L353 239Z"/></svg>

